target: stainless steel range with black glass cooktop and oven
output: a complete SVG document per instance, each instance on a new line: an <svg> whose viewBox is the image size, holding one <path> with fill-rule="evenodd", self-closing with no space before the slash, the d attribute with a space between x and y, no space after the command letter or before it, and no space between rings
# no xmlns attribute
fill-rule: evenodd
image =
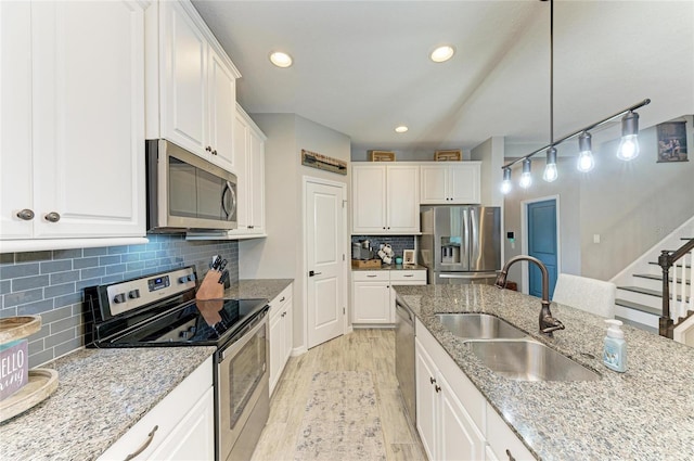
<svg viewBox="0 0 694 461"><path fill-rule="evenodd" d="M215 346L215 452L249 459L269 414L268 299L196 300L193 266L85 289L87 347Z"/></svg>

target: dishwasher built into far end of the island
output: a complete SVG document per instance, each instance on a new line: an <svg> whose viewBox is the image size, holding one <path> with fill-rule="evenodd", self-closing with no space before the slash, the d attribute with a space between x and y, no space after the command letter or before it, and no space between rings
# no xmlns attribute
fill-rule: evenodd
<svg viewBox="0 0 694 461"><path fill-rule="evenodd" d="M396 294L395 298L395 374L398 377L410 422L416 421L414 371L414 313Z"/></svg>

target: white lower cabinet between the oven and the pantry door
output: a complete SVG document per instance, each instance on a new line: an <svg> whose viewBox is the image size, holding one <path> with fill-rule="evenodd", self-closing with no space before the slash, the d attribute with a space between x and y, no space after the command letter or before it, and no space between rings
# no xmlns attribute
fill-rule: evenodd
<svg viewBox="0 0 694 461"><path fill-rule="evenodd" d="M274 390L284 366L292 355L292 319L294 313L290 284L270 302L270 395Z"/></svg>

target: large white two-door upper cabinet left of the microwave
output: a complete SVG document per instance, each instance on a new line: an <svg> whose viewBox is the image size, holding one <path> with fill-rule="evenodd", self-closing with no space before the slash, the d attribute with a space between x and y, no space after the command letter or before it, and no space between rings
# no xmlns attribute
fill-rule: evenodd
<svg viewBox="0 0 694 461"><path fill-rule="evenodd" d="M0 2L3 240L144 236L144 8Z"/></svg>

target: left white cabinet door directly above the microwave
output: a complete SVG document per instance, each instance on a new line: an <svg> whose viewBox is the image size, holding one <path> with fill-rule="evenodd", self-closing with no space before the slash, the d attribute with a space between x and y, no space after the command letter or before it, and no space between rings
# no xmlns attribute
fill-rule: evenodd
<svg viewBox="0 0 694 461"><path fill-rule="evenodd" d="M207 40L179 2L158 5L162 136L208 157Z"/></svg>

